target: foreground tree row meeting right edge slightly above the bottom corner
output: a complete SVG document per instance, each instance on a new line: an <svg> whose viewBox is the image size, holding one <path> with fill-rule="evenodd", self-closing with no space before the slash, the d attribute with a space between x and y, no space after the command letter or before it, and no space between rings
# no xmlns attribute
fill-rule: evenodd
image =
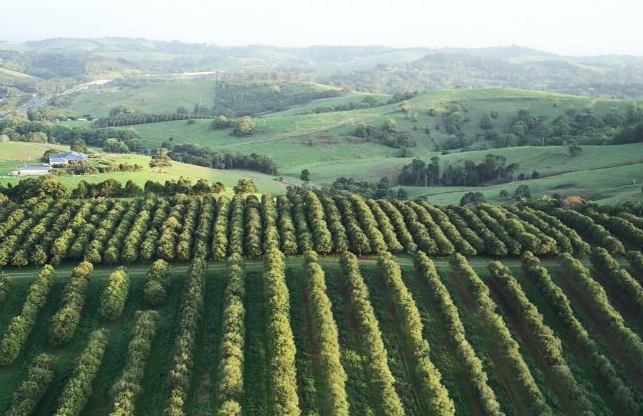
<svg viewBox="0 0 643 416"><path fill-rule="evenodd" d="M643 368L643 342L626 325L621 314L612 306L603 286L594 280L589 270L569 253L560 254L558 259L565 274L577 283L576 287L584 296L585 302L592 309L596 318L627 350L632 363L641 370Z"/></svg>

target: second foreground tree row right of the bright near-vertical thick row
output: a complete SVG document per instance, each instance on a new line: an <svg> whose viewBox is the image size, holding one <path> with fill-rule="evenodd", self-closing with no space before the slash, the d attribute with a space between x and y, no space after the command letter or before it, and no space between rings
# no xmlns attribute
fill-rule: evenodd
<svg viewBox="0 0 643 416"><path fill-rule="evenodd" d="M339 261L342 284L350 294L350 308L355 315L359 337L363 340L364 364L370 376L368 382L372 391L377 392L374 397L377 408L382 414L403 415L404 407L395 391L395 378L388 365L388 353L382 341L368 288L359 271L357 257L352 253L344 253Z"/></svg>

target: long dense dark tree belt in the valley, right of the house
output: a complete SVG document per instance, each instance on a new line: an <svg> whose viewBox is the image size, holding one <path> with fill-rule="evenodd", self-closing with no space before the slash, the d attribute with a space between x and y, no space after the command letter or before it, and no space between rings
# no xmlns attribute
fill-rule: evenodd
<svg viewBox="0 0 643 416"><path fill-rule="evenodd" d="M277 165L268 156L251 153L233 154L227 150L215 150L195 144L166 145L169 156L177 162L190 163L215 169L246 169L269 175L277 174Z"/></svg>

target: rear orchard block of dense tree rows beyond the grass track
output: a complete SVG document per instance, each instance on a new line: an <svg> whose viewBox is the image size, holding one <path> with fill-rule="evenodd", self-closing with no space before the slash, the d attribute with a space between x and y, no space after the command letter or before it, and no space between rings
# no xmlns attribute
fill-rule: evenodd
<svg viewBox="0 0 643 416"><path fill-rule="evenodd" d="M331 197L313 191L276 199L262 196L261 200L237 194L229 200L210 193L198 196L212 190L206 182L191 185L179 180L166 185L180 193L169 198L148 193L144 199L58 196L54 202L32 196L43 191L55 195L56 183L25 184L20 189L21 205L9 203L0 217L0 232L5 235L0 241L0 266L41 266L64 260L93 264L156 258L222 260L231 253L257 258L266 252L269 239L278 240L286 255L308 250L379 254L419 249L440 256L457 252L517 257L525 251L582 256L589 252L584 239L610 253L625 251L605 227L569 209L438 207L422 200L373 200L355 194ZM623 232L619 237L626 238Z"/></svg>

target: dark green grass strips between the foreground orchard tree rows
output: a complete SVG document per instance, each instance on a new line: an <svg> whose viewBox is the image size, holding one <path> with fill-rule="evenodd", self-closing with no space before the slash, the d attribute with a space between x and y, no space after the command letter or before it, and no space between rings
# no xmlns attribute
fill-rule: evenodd
<svg viewBox="0 0 643 416"><path fill-rule="evenodd" d="M422 337L430 344L430 359L440 371L442 383L453 399L457 414L480 414L480 401L474 394L470 378L466 376L463 362L460 360L452 338L450 338L445 322L441 317L439 306L431 298L425 281L415 272L410 259L402 256L398 259L403 273L403 282L412 294L415 305L420 313L424 326ZM504 291L493 284L485 258L473 258L470 264L483 278L491 290L491 296L498 304L498 313L504 319L511 331L511 336L518 342L520 354L527 363L529 371L534 375L536 385L546 397L547 404L557 414L575 414L570 409L569 402L564 398L564 387L560 380L551 377L551 368L542 360L542 351L535 344L532 334L525 331L524 321L507 303ZM355 333L353 306L350 296L343 287L342 272L336 258L321 258L326 272L327 294L332 301L332 314L338 327L341 364L346 371L346 393L351 409L351 414L364 414L373 409L376 394L369 384L365 373L363 360L365 359L363 345ZM571 334L563 321L548 304L546 299L534 285L525 278L519 267L518 260L503 262L508 266L518 279L528 299L536 305L544 316L546 325L552 328L554 334L562 341L565 359L570 365L572 374L584 387L590 397L591 406L597 414L611 414L616 412L612 395L605 389L603 380L597 374L592 362L586 354L575 345ZM449 267L444 259L435 259L442 283L447 287L451 298L456 305L462 320L467 339L478 356L483 359L483 368L489 375L489 385L493 389L500 403L501 409L507 414L518 416L525 414L522 406L525 396L517 387L515 376L508 373L509 368L504 367L506 362L491 350L495 345L496 334L493 329L485 324L475 310L471 309L472 295L463 292L461 282L449 272ZM555 261L544 261L555 282L565 288L570 297L572 306L577 309L578 317L586 322L590 336L600 345L600 351L616 365L618 374L634 390L635 399L643 400L641 388L636 375L628 368L630 360L612 348L609 340L609 331L604 331L595 326L595 317L584 315L585 300L577 293L567 289L568 278L562 273ZM45 396L40 401L36 414L51 415L56 409L57 399L60 396L65 380L73 369L74 359L82 351L88 334L96 328L106 326L110 329L110 338L105 358L94 383L92 395L83 415L107 415L111 410L112 399L109 389L119 376L123 360L110 359L109 357L124 356L130 340L130 330L133 324L133 315L136 310L146 309L142 302L142 285L146 265L133 265L129 268L132 280L129 298L123 317L116 322L106 324L98 314L100 295L107 284L106 276L112 267L98 267L91 279L88 291L86 308L83 312L80 327L69 346L62 348L51 347L47 341L50 317L57 310L59 298L68 280L70 265L57 268L55 284L48 296L48 301L31 333L26 348L21 352L18 360L10 367L0 372L0 408L5 409L11 400L11 394L18 383L26 377L26 368L30 359L39 352L49 352L57 357L55 366L55 379L49 386ZM171 368L171 355L174 338L179 330L179 309L183 287L183 274L187 265L173 267L174 278L171 281L169 297L158 308L160 319L157 335L154 338L151 355L145 366L145 374L141 383L142 393L136 402L137 414L161 415L169 398L167 385L168 372ZM244 305L245 318L245 350L244 350L244 395L242 397L243 414L268 415L270 413L270 396L268 393L268 358L266 356L266 303L264 297L264 282L261 277L262 265L260 261L248 261L245 272L246 296ZM9 270L12 274L13 270ZM0 308L0 331L4 331L9 319L13 317L22 305L28 284L36 271L34 269L15 270L14 287L5 304ZM384 346L388 353L388 366L395 377L395 390L400 396L407 415L424 414L417 396L418 380L412 376L411 351L404 341L404 331L396 322L396 304L383 285L382 272L374 264L374 259L361 260L361 273L370 292L370 304L373 306L381 332ZM301 259L293 258L286 264L286 279L290 292L290 320L293 336L297 348L295 360L297 369L297 389L302 414L316 414L323 412L320 398L324 391L320 384L319 368L314 365L315 350L312 344L313 334L309 323L310 309L306 301L308 289L303 280L304 270ZM220 357L221 342L221 317L223 313L223 299L221 291L225 287L226 272L223 263L211 263L206 275L205 309L203 319L200 321L197 345L194 351L195 362L190 382L190 394L185 402L187 415L213 414L220 403L217 400L216 386L219 381L217 360ZM620 305L620 295L608 290L609 298L615 305ZM639 336L643 335L643 321L640 316L635 316L627 310L621 309L627 320L627 325ZM561 400L562 399L562 400ZM522 410L521 410L522 409ZM614 413L617 414L617 413Z"/></svg>

